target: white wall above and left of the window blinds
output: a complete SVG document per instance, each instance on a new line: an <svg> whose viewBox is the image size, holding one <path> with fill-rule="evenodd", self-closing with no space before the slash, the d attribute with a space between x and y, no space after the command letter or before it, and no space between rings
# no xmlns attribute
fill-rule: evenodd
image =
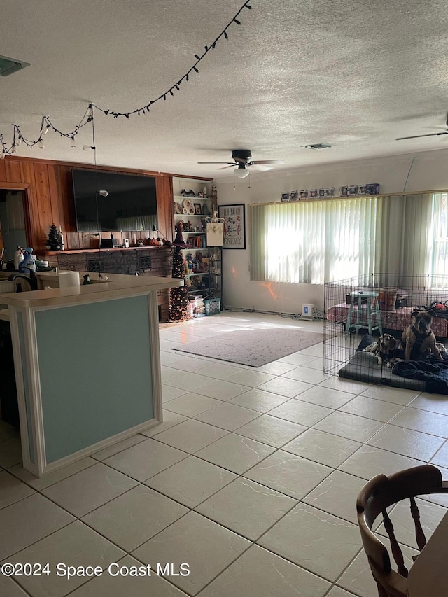
<svg viewBox="0 0 448 597"><path fill-rule="evenodd" d="M409 173L411 164L412 169ZM250 188L248 178L236 178L235 190L233 178L218 178L216 186L218 204L247 205L277 202L280 200L281 192L327 187L335 187L337 192L342 185L362 183L379 183L381 195L403 190L445 190L448 188L448 149L323 164L287 171L257 172L251 174ZM250 242L246 224L246 247ZM302 303L312 302L318 309L323 309L323 286L250 281L248 265L247 248L246 251L223 250L225 307L255 307L258 311L297 314L302 310Z"/></svg>

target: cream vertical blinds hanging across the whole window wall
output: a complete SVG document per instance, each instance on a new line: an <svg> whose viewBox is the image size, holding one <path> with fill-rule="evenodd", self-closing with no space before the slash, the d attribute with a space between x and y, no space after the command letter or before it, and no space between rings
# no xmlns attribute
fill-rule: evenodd
<svg viewBox="0 0 448 597"><path fill-rule="evenodd" d="M439 195L445 210L436 254L448 257L447 193ZM323 284L372 272L426 275L433 209L428 194L250 205L251 280Z"/></svg>

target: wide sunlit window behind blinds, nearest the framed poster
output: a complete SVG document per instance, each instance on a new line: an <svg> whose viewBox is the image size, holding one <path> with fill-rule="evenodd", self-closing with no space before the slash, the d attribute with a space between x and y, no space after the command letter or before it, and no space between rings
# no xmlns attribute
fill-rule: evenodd
<svg viewBox="0 0 448 597"><path fill-rule="evenodd" d="M251 280L323 284L374 272L383 202L251 205Z"/></svg>

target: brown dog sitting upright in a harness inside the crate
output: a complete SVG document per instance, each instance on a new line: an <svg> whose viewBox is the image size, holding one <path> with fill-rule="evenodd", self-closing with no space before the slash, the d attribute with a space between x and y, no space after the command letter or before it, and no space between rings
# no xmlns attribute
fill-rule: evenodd
<svg viewBox="0 0 448 597"><path fill-rule="evenodd" d="M431 330L431 323L435 317L434 311L412 311L412 321L409 328L402 333L401 342L405 348L405 360L418 359L434 354L442 358L440 350L435 345L435 335Z"/></svg>

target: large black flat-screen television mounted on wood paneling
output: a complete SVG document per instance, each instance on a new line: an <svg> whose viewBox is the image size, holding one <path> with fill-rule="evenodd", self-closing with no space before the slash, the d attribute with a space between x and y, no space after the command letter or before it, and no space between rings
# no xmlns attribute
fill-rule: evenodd
<svg viewBox="0 0 448 597"><path fill-rule="evenodd" d="M153 176L76 169L72 174L78 232L158 230Z"/></svg>

